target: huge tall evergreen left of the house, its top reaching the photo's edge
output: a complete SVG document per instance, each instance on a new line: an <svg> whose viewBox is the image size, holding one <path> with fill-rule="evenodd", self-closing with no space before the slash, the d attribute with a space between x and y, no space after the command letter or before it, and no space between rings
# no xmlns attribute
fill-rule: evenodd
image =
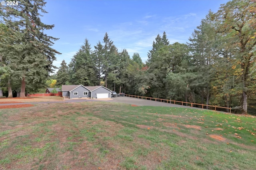
<svg viewBox="0 0 256 170"><path fill-rule="evenodd" d="M17 6L0 7L4 24L16 36L11 59L17 67L15 74L21 79L20 97L25 97L26 82L38 85L52 72L55 54L59 54L50 47L58 39L43 32L54 27L40 20L41 14L46 13L45 4L44 0L23 0Z"/></svg>

